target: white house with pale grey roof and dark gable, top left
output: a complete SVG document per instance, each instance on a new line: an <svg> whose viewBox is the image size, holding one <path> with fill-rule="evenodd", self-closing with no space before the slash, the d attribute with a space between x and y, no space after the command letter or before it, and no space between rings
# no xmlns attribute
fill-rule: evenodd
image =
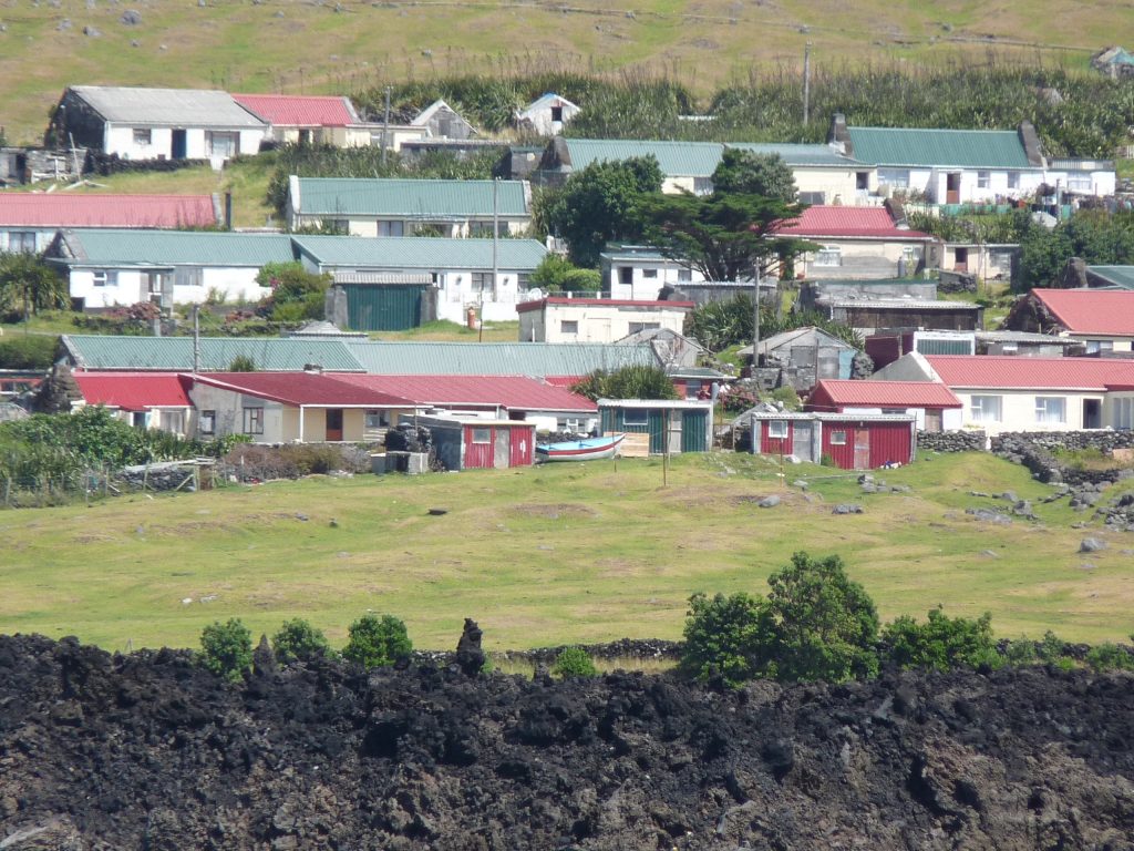
<svg viewBox="0 0 1134 851"><path fill-rule="evenodd" d="M227 92L197 89L70 86L49 134L60 144L124 160L210 160L254 154L268 125Z"/></svg>

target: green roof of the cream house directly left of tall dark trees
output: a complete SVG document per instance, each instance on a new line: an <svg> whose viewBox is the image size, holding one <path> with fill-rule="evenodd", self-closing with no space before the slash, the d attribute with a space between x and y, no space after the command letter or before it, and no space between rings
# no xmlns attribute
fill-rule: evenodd
<svg viewBox="0 0 1134 851"><path fill-rule="evenodd" d="M528 214L523 180L401 180L301 177L301 216L398 216L449 219ZM293 201L294 203L294 201Z"/></svg>

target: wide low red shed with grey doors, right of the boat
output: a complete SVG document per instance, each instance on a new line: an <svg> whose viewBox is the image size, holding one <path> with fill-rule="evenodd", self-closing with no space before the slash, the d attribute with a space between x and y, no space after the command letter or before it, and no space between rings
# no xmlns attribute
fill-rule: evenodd
<svg viewBox="0 0 1134 851"><path fill-rule="evenodd" d="M916 446L916 418L900 414L747 414L756 455L794 455L843 470L908 464Z"/></svg>

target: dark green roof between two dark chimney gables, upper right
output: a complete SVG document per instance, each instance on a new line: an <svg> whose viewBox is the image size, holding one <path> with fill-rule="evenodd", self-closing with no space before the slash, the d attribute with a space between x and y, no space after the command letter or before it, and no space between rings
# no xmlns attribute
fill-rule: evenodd
<svg viewBox="0 0 1134 851"><path fill-rule="evenodd" d="M1015 130L850 127L855 159L874 166L1034 169Z"/></svg>

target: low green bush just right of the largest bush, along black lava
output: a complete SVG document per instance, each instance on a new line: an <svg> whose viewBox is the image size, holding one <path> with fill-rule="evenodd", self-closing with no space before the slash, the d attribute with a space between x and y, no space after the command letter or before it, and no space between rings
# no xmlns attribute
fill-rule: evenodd
<svg viewBox="0 0 1134 851"><path fill-rule="evenodd" d="M936 608L923 624L903 615L887 624L882 640L887 658L903 668L951 671L1002 664L992 639L992 615L988 612L973 621L948 617Z"/></svg>

